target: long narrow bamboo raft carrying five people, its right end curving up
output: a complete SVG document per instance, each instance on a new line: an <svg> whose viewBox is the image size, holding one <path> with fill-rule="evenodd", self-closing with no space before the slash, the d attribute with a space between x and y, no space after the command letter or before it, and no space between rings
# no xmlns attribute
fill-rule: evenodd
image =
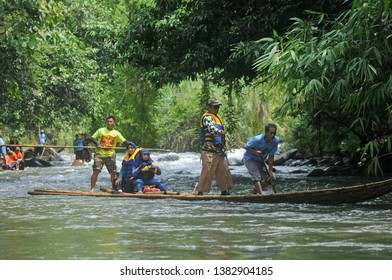
<svg viewBox="0 0 392 280"><path fill-rule="evenodd" d="M141 198L141 199L181 199L188 201L219 200L227 202L251 203L291 203L291 204L320 204L336 205L357 203L371 200L392 191L392 179L360 184L350 187L307 190L299 192L275 193L265 195L196 195L192 193L168 192L164 193L120 193L114 194L111 189L101 188L99 192L35 189L29 191L30 195L65 195L65 196L92 196L112 198Z"/></svg>

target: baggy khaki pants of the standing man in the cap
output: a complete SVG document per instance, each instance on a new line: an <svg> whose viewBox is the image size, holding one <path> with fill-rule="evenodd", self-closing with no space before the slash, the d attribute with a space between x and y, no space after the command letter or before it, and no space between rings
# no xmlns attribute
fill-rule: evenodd
<svg viewBox="0 0 392 280"><path fill-rule="evenodd" d="M221 192L229 190L233 186L233 178L223 153L201 151L202 170L199 179L199 192L211 190L212 179L218 183Z"/></svg>

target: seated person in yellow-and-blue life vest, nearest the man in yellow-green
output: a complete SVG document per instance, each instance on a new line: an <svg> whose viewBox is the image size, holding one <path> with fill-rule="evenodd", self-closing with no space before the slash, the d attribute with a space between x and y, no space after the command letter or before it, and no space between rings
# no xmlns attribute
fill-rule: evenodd
<svg viewBox="0 0 392 280"><path fill-rule="evenodd" d="M121 164L120 174L116 180L116 191L132 192L132 170L135 167L140 150L133 142L127 144L127 151Z"/></svg>

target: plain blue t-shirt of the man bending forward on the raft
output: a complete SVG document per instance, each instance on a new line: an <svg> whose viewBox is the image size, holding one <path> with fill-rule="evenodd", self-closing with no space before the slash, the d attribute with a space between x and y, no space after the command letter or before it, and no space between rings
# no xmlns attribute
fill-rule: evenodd
<svg viewBox="0 0 392 280"><path fill-rule="evenodd" d="M275 155L278 151L278 144L279 138L274 136L274 138L270 142L265 142L264 140L265 134L262 133L260 135L256 135L248 143L245 144L244 148L254 149L254 150L261 150L262 154L261 157L263 160L266 160L268 155ZM248 151L245 151L243 161L247 161L249 159L254 159L257 161L261 160L261 157L258 157L254 154L251 154Z"/></svg>

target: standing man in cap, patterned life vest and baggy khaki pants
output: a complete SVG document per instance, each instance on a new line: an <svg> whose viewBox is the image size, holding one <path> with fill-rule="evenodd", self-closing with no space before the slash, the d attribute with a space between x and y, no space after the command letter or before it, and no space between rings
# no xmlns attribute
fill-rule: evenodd
<svg viewBox="0 0 392 280"><path fill-rule="evenodd" d="M222 118L218 115L222 103L217 99L208 102L208 111L200 118L200 145L202 170L198 195L209 192L212 178L218 183L222 195L228 195L233 179L225 154L226 141Z"/></svg>

